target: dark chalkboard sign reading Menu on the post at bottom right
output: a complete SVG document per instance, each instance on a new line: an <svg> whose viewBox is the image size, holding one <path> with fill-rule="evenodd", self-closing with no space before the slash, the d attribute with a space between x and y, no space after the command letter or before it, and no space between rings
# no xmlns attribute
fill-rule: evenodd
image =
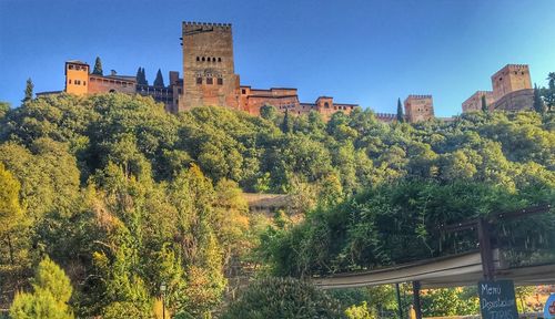
<svg viewBox="0 0 555 319"><path fill-rule="evenodd" d="M513 280L480 281L478 296L483 319L518 319Z"/></svg>

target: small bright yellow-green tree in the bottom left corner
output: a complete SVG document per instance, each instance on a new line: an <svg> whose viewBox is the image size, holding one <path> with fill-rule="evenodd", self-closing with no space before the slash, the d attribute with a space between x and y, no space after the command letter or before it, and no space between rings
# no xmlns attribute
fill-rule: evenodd
<svg viewBox="0 0 555 319"><path fill-rule="evenodd" d="M10 307L11 318L73 318L68 305L73 290L70 279L49 257L40 261L32 287L33 292L17 292Z"/></svg>

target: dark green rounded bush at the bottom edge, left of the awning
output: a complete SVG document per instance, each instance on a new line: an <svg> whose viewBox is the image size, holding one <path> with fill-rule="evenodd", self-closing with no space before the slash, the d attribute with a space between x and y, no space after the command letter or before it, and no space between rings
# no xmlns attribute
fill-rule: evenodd
<svg viewBox="0 0 555 319"><path fill-rule="evenodd" d="M239 299L229 306L222 318L347 317L341 310L337 300L306 281L293 278L264 278L251 282Z"/></svg>

